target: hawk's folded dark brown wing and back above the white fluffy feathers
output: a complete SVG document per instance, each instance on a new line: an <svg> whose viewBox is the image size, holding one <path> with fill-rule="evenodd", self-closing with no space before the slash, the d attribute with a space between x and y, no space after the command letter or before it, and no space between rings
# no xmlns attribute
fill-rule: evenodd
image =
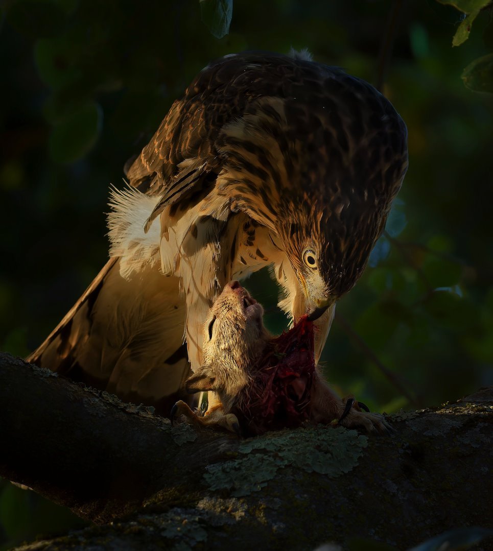
<svg viewBox="0 0 493 551"><path fill-rule="evenodd" d="M235 54L211 63L186 89L183 99L174 102L133 162L127 172L130 184L144 193L163 195L162 208L174 203L206 174L221 170L217 140L224 125L241 117L260 98L296 99L302 87L310 83L319 87L323 74L344 73L270 53Z"/></svg>

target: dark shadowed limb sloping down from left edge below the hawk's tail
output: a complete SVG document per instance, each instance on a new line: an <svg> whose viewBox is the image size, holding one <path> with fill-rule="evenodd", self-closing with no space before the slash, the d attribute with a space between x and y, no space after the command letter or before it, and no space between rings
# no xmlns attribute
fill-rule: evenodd
<svg viewBox="0 0 493 551"><path fill-rule="evenodd" d="M0 476L95 522L135 509L158 490L190 483L237 447L229 435L172 429L147 408L3 353L0 426Z"/></svg>

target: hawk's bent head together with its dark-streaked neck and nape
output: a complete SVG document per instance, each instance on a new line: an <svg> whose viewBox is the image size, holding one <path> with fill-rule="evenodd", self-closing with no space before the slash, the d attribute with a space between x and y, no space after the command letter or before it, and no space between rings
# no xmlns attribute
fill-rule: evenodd
<svg viewBox="0 0 493 551"><path fill-rule="evenodd" d="M296 64L283 96L251 102L219 142L235 205L281 239L315 319L366 266L408 165L407 133L365 81Z"/></svg>

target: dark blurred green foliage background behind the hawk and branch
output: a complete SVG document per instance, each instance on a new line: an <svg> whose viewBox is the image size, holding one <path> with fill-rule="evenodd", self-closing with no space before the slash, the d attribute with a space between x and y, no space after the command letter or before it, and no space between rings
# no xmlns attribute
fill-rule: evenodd
<svg viewBox="0 0 493 551"><path fill-rule="evenodd" d="M235 0L221 39L198 0L17 0L0 17L1 350L36 348L103 266L109 184L123 185L125 161L202 67L231 52L308 47L381 84L409 130L408 175L337 308L325 375L387 412L493 384L493 95L460 79L493 51L491 8L475 10L460 47L464 16L436 0ZM281 331L269 274L247 287ZM0 549L73 522L0 482Z"/></svg>

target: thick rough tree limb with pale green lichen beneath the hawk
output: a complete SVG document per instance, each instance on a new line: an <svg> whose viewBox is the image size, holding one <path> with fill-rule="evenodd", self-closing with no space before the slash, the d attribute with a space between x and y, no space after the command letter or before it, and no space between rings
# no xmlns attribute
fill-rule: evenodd
<svg viewBox="0 0 493 551"><path fill-rule="evenodd" d="M318 426L238 440L0 354L0 476L100 525L25 549L313 549L355 536L406 549L492 528L493 387L388 421L393 436Z"/></svg>

